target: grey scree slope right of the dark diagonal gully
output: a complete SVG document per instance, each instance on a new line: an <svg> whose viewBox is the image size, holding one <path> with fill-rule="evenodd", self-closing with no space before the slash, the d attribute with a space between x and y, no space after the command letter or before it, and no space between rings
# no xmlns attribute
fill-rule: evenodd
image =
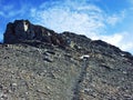
<svg viewBox="0 0 133 100"><path fill-rule="evenodd" d="M105 59L104 59L105 60ZM108 62L109 61L109 62ZM100 64L99 59L90 59L86 76L80 90L81 100L132 100L131 84L132 73L125 76L126 71L120 71L121 62L112 63L111 60ZM117 61L117 60L116 60ZM96 62L96 63L95 63ZM132 69L133 66L121 63L121 70ZM123 89L124 88L124 89ZM126 97L127 96L127 97Z"/></svg>

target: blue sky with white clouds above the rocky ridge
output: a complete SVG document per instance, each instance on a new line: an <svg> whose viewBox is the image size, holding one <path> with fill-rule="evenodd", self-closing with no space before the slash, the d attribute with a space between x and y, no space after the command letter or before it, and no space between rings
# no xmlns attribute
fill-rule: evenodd
<svg viewBox="0 0 133 100"><path fill-rule="evenodd" d="M0 0L0 40L16 19L101 39L133 53L133 0Z"/></svg>

